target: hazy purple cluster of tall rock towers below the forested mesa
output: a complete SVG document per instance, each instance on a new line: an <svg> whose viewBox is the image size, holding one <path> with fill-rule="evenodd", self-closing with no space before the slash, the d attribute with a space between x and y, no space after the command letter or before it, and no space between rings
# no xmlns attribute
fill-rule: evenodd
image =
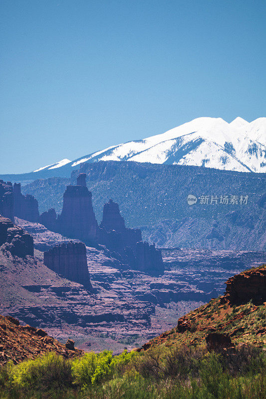
<svg viewBox="0 0 266 399"><path fill-rule="evenodd" d="M162 273L161 251L142 242L140 229L126 228L118 203L109 200L104 204L99 227L91 197L86 187L86 174L82 173L77 177L76 186L67 186L61 214L56 217L55 210L49 209L40 215L40 222L49 230L79 239L86 245L105 245L133 270Z"/></svg>

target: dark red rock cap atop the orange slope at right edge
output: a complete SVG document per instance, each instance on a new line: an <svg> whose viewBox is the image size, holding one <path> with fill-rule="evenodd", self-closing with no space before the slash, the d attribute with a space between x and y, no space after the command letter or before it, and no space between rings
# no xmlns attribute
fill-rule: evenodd
<svg viewBox="0 0 266 399"><path fill-rule="evenodd" d="M244 271L226 282L225 299L232 304L266 301L266 269Z"/></svg>

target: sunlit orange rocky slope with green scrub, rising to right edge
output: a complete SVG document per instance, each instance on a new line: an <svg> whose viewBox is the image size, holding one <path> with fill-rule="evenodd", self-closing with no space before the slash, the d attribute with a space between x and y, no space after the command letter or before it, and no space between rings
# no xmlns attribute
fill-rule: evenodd
<svg viewBox="0 0 266 399"><path fill-rule="evenodd" d="M210 333L224 334L237 345L266 347L266 264L231 277L224 296L193 310L178 325L137 351L156 346L205 345Z"/></svg>

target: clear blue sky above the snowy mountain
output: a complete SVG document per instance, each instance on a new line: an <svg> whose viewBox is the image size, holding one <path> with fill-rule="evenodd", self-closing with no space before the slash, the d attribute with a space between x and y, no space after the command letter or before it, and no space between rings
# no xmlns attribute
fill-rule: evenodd
<svg viewBox="0 0 266 399"><path fill-rule="evenodd" d="M0 173L266 116L265 0L1 0Z"/></svg>

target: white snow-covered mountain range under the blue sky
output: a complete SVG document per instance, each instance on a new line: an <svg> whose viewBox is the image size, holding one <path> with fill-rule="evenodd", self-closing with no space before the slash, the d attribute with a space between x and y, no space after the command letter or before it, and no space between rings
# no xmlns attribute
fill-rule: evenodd
<svg viewBox="0 0 266 399"><path fill-rule="evenodd" d="M114 145L72 162L64 159L34 172L69 167L70 162L75 168L83 162L110 160L266 172L266 118L251 123L240 117L231 123L197 118L147 139Z"/></svg>

